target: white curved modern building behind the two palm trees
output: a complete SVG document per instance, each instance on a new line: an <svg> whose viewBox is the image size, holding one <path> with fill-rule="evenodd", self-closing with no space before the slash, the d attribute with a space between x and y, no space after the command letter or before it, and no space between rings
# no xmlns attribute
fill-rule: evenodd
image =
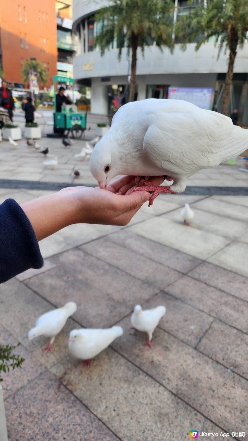
<svg viewBox="0 0 248 441"><path fill-rule="evenodd" d="M83 85L91 86L91 112L110 114L124 100L125 90L130 74L130 60L127 50L122 52L120 62L117 59L116 41L101 57L99 50L94 49L96 25L94 14L106 0L73 0L72 30L78 37L78 47L73 60L74 78ZM190 12L188 1L175 0L174 19L179 14ZM144 57L138 50L137 61L137 99L167 98L168 92L185 96L189 88L201 88L203 94L210 93L209 107L215 104L216 97L223 87L227 70L228 54L218 55L218 47L209 41L195 52L195 43L187 45L185 52L177 44L173 54L169 49L161 52L151 43L145 49ZM248 124L248 43L238 49L234 67L232 107L239 109L242 123ZM178 90L187 88L188 90ZM211 91L209 91L211 89ZM195 95L197 91L195 90ZM196 102L197 97L196 97ZM220 110L221 102L218 102Z"/></svg>

